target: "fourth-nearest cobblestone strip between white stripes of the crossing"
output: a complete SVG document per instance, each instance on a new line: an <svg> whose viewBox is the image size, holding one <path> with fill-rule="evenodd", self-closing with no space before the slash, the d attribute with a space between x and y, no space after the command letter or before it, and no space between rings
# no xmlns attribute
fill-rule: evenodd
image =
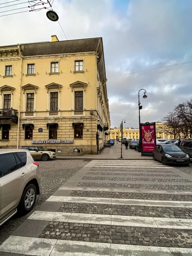
<svg viewBox="0 0 192 256"><path fill-rule="evenodd" d="M79 182L77 186L87 187L112 187L112 188L131 188L131 189L169 189L169 190L190 190L190 186L184 185L157 185L157 184L128 184L128 183L93 183Z"/></svg>

